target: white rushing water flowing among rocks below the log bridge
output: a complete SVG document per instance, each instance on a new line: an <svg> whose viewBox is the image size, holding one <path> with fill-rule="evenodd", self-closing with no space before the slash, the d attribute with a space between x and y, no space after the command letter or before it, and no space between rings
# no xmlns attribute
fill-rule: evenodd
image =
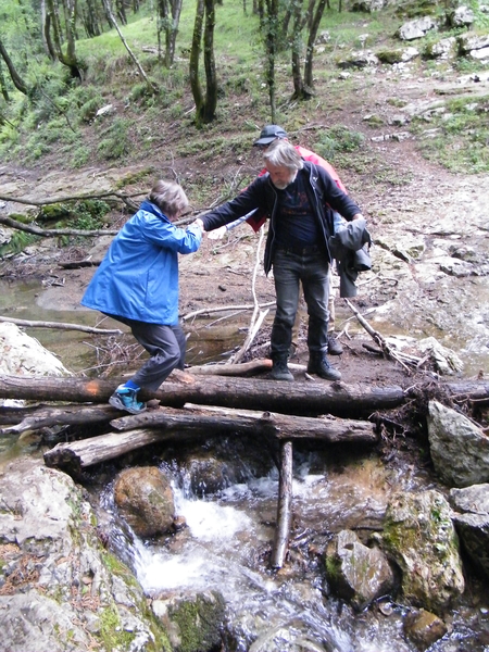
<svg viewBox="0 0 489 652"><path fill-rule="evenodd" d="M176 512L187 528L149 543L118 524L111 537L114 549L154 599L220 591L227 604L226 652L415 652L403 635L408 607L385 597L355 613L329 594L322 555L311 551L342 527L379 525L389 494L421 489L426 478L406 466L388 471L375 456L329 457L324 451L294 453L294 534L281 570L267 563L276 471L199 497L175 463L164 463L162 469L173 476ZM110 486L101 506L117 523ZM452 614L451 634L432 650L487 652L478 642L480 631L489 628L487 613Z"/></svg>

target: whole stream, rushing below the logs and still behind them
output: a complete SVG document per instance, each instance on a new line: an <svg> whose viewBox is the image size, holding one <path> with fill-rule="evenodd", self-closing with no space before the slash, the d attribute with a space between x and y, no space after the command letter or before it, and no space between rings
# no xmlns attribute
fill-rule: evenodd
<svg viewBox="0 0 489 652"><path fill-rule="evenodd" d="M0 313L24 319L95 325L91 311L51 310L39 301L39 284L0 281ZM108 324L104 326L109 327ZM114 323L114 327L118 327ZM202 333L202 331L201 331ZM95 364L86 334L38 329L29 335L79 372ZM225 326L189 339L190 360L215 360L236 346L235 328ZM480 362L480 359L478 359ZM206 444L212 450L212 440ZM241 454L227 442L233 463ZM184 451L185 444L179 447ZM265 451L264 451L265 452ZM0 463L21 454L39 455L28 438L0 442ZM172 456L174 455L174 456ZM174 451L159 462L172 477L176 512L184 530L158 541L139 539L121 522L113 502L113 482L98 493L98 509L110 523L111 549L134 570L148 597L220 591L227 610L225 652L416 652L403 634L406 605L386 595L362 613L329 593L321 551L344 528L368 538L380 529L394 491L434 488L426 471L402 455L394 464L362 450L339 452L294 447L293 532L288 563L268 567L276 518L278 474L258 473L248 465L239 482L224 482L214 492L196 491ZM446 492L446 489L437 487ZM444 615L448 634L430 652L488 652L489 595L466 591L456 611Z"/></svg>

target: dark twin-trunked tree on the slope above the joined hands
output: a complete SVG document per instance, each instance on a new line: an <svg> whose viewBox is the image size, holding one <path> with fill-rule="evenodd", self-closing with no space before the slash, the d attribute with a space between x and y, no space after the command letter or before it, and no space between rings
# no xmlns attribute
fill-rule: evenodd
<svg viewBox="0 0 489 652"><path fill-rule="evenodd" d="M196 124L198 126L215 118L217 106L217 77L214 60L215 0L198 0L190 51L190 86L196 102ZM204 26L205 24L205 26ZM205 70L205 96L199 79L199 60L203 30L203 59Z"/></svg>

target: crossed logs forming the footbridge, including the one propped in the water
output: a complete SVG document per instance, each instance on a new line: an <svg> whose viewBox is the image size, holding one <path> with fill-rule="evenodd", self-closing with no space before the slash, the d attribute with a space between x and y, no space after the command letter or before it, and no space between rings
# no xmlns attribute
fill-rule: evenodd
<svg viewBox="0 0 489 652"><path fill-rule="evenodd" d="M239 365L234 365L239 366ZM265 365L266 366L266 365ZM16 377L0 374L0 399L48 401L29 408L0 408L0 436L53 426L89 426L87 438L58 443L45 453L48 466L68 473L112 460L150 443L181 437L253 435L279 442L279 501L272 565L281 567L291 523L292 441L309 438L328 443L375 444L368 416L411 400L400 387L362 387L343 383L279 383L230 376L175 373L154 396L154 408L122 416L106 404L116 383L87 378ZM489 384L444 384L453 399L487 400ZM108 432L90 437L90 428Z"/></svg>

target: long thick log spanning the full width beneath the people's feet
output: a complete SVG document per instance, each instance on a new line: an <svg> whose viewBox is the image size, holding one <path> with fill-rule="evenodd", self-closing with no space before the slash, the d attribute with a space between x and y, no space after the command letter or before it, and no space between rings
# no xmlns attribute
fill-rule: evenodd
<svg viewBox="0 0 489 652"><path fill-rule="evenodd" d="M205 377L199 379L185 374L186 383L166 380L154 393L140 392L146 401L158 399L163 405L181 408L185 403L222 405L247 410L273 411L284 414L333 414L341 417L368 416L375 411L390 410L404 404L423 385L404 391L401 387L374 387L344 383L297 381L256 378ZM176 379L179 379L176 376ZM0 374L0 398L30 401L59 401L76 403L105 403L116 387L116 381L87 378L59 378L42 376L26 378ZM432 380L428 384L432 388ZM447 396L466 399L489 398L489 383L462 380L439 383Z"/></svg>

